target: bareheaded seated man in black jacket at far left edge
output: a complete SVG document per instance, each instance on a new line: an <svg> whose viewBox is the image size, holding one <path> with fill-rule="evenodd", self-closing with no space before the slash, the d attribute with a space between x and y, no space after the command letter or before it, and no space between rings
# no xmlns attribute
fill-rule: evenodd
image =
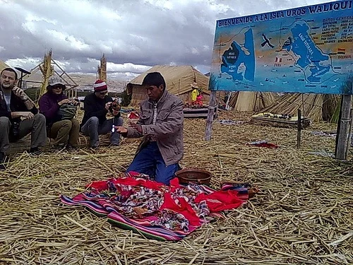
<svg viewBox="0 0 353 265"><path fill-rule="evenodd" d="M25 92L16 86L17 73L6 68L0 74L0 169L4 170L5 154L10 142L31 133L30 153L47 142L45 117Z"/></svg>

